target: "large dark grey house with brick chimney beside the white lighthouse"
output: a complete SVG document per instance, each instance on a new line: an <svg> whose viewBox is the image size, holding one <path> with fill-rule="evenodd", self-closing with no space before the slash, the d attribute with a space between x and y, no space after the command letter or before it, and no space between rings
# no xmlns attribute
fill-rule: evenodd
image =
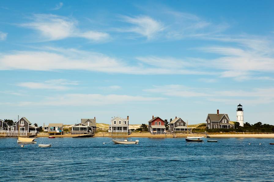
<svg viewBox="0 0 274 182"><path fill-rule="evenodd" d="M217 114L208 114L206 117L206 126L208 129L229 129L234 128L234 124L229 123L228 114L220 114L219 109Z"/></svg>

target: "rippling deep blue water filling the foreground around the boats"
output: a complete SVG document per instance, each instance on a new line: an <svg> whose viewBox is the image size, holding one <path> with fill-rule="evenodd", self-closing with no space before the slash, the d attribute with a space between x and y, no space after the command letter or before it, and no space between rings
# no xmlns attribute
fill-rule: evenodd
<svg viewBox="0 0 274 182"><path fill-rule="evenodd" d="M52 147L39 148L42 139ZM136 139L38 138L21 148L17 138L0 138L0 181L274 181L274 139Z"/></svg>

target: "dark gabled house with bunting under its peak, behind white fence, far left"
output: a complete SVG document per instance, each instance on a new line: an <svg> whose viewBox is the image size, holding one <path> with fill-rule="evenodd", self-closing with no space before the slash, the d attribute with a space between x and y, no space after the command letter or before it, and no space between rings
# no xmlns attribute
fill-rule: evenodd
<svg viewBox="0 0 274 182"><path fill-rule="evenodd" d="M39 127L31 125L31 122L27 118L21 117L15 125L8 127L7 133L17 133L18 136L18 130L20 130L20 136L30 136L36 135L38 128Z"/></svg>

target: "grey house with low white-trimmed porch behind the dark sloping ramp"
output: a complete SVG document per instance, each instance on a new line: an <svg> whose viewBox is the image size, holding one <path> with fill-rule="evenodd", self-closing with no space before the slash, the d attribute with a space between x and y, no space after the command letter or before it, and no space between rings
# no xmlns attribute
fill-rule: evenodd
<svg viewBox="0 0 274 182"><path fill-rule="evenodd" d="M81 123L72 126L72 134L92 134L96 130L96 119L81 119Z"/></svg>

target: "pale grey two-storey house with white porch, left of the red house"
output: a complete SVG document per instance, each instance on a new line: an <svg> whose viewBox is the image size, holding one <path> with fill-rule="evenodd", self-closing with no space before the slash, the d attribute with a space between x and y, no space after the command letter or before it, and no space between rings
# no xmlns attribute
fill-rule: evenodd
<svg viewBox="0 0 274 182"><path fill-rule="evenodd" d="M110 120L109 125L109 135L111 136L123 136L128 135L128 122L129 122L129 116L127 119L121 118L119 116L116 116Z"/></svg>

